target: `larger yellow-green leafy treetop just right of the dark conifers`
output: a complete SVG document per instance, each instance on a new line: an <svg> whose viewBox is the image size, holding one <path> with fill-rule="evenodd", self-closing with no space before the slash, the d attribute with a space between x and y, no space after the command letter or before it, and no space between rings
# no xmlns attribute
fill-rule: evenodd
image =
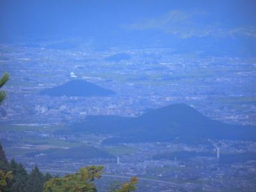
<svg viewBox="0 0 256 192"><path fill-rule="evenodd" d="M87 166L75 174L51 179L44 184L44 192L95 192L93 180L100 178L103 166Z"/></svg>

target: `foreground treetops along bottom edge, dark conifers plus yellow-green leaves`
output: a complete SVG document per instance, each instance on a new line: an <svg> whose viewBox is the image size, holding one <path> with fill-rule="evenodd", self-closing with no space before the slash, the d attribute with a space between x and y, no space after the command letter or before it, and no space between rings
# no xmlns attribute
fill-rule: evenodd
<svg viewBox="0 0 256 192"><path fill-rule="evenodd" d="M87 166L81 168L75 174L65 177L55 177L47 173L40 172L37 166L28 174L22 166L17 164L14 159L8 163L4 150L0 143L0 192L95 192L97 188L93 181L102 175L103 166ZM129 182L110 187L111 192L131 192L136 190L138 179L131 177Z"/></svg>

